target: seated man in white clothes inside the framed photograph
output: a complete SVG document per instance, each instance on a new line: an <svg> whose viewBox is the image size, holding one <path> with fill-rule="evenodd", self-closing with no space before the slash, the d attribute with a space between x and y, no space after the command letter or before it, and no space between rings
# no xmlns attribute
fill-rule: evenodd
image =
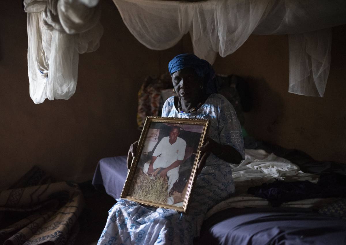
<svg viewBox="0 0 346 245"><path fill-rule="evenodd" d="M179 178L179 166L185 156L186 142L178 137L179 134L180 127L173 126L169 136L163 137L157 144L150 163L145 163L143 167L144 173L148 175L160 174L168 177L168 193ZM173 198L169 197L167 204L173 203Z"/></svg>

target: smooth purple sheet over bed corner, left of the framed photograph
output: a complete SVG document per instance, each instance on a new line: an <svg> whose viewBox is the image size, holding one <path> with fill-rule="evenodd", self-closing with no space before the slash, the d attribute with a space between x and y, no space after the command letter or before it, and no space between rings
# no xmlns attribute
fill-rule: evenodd
<svg viewBox="0 0 346 245"><path fill-rule="evenodd" d="M117 199L120 197L122 187L127 176L127 156L115 156L102 158L97 166L92 180L92 185Z"/></svg>

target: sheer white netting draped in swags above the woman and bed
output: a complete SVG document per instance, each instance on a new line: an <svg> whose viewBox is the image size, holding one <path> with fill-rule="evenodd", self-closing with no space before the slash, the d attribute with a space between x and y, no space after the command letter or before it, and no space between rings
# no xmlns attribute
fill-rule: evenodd
<svg viewBox="0 0 346 245"><path fill-rule="evenodd" d="M289 92L323 97L330 67L330 28L346 23L344 0L113 0L137 40L174 46L190 33L193 52L209 63L235 52L251 34L289 35Z"/></svg>

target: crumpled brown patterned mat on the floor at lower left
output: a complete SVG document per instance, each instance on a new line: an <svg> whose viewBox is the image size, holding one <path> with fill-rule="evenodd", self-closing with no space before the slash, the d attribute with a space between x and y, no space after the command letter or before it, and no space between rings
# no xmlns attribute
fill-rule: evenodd
<svg viewBox="0 0 346 245"><path fill-rule="evenodd" d="M38 167L0 192L0 244L74 243L84 206L78 185L55 182Z"/></svg>

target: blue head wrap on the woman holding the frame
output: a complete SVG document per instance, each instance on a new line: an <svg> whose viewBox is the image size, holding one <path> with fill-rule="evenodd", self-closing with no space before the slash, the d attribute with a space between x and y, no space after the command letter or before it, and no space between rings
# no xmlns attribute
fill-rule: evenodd
<svg viewBox="0 0 346 245"><path fill-rule="evenodd" d="M192 68L200 78L205 78L204 85L207 88L207 93L217 92L214 81L215 71L208 61L202 60L194 54L179 54L168 64L168 70L171 75L184 68Z"/></svg>

